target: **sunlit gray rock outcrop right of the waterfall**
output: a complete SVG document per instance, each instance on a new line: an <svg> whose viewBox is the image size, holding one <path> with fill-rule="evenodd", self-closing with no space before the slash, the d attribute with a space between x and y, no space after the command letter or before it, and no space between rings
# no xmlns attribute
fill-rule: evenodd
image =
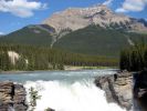
<svg viewBox="0 0 147 111"><path fill-rule="evenodd" d="M116 102L122 108L130 110L133 107L133 77L128 72L114 75L98 77L95 80L97 87L106 93L108 102Z"/></svg>

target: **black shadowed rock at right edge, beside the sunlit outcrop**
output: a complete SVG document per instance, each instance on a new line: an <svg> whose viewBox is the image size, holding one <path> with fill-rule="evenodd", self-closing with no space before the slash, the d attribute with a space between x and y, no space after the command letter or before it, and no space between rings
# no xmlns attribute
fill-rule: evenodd
<svg viewBox="0 0 147 111"><path fill-rule="evenodd" d="M134 103L135 111L147 111L147 70L134 73Z"/></svg>

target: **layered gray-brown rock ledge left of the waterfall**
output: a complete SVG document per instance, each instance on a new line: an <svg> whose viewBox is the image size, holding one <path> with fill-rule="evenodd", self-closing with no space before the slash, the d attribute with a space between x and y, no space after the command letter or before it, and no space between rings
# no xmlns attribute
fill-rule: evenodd
<svg viewBox="0 0 147 111"><path fill-rule="evenodd" d="M25 89L13 82L0 82L0 111L27 111Z"/></svg>

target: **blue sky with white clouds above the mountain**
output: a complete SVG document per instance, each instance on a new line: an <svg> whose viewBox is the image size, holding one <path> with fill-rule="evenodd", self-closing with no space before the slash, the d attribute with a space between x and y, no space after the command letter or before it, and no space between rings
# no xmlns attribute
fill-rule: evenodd
<svg viewBox="0 0 147 111"><path fill-rule="evenodd" d="M40 24L56 11L105 4L118 13L147 20L147 0L0 0L0 34Z"/></svg>

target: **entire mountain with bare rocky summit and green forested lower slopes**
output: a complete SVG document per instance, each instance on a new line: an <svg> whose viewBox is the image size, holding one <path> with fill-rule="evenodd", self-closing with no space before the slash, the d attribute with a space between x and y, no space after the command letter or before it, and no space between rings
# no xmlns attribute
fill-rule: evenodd
<svg viewBox="0 0 147 111"><path fill-rule="evenodd" d="M106 6L70 8L42 24L27 26L0 42L48 46L76 53L118 57L120 49L144 38L147 22L115 13Z"/></svg>

